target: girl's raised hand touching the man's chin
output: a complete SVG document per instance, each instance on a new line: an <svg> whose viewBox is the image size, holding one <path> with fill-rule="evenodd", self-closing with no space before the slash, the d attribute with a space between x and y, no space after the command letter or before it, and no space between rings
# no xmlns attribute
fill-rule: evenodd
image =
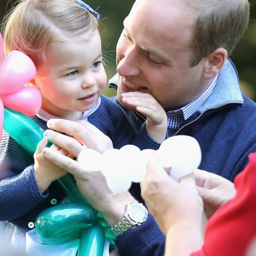
<svg viewBox="0 0 256 256"><path fill-rule="evenodd" d="M146 129L148 134L158 143L162 143L166 138L167 116L165 110L148 93L127 92L122 93L122 105L132 109L147 117Z"/></svg>

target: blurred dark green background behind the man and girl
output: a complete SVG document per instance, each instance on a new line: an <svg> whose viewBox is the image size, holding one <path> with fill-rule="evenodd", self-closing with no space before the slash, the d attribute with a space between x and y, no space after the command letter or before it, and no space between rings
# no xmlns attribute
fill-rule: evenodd
<svg viewBox="0 0 256 256"><path fill-rule="evenodd" d="M15 2L16 0L1 1L0 19ZM100 31L106 60L105 68L108 78L110 78L116 72L115 49L123 28L123 20L131 9L134 0L86 0L86 3L97 9L101 15ZM243 92L256 101L256 0L250 0L250 4L250 24L230 57L237 67ZM115 90L106 88L104 94L112 96L115 94Z"/></svg>

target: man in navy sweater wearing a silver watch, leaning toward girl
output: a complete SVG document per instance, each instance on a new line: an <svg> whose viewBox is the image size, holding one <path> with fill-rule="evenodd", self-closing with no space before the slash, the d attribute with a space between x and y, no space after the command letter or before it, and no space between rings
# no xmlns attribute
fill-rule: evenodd
<svg viewBox="0 0 256 256"><path fill-rule="evenodd" d="M248 153L256 151L256 104L241 93L228 59L248 17L247 0L136 0L117 44L119 102L129 108L129 97L152 94L166 110L167 136L196 138L202 150L199 168L230 181L244 169ZM123 99L122 92L129 92L129 97ZM133 110L125 111L139 130L145 119ZM48 127L101 151L108 144L88 123L50 120ZM48 134L75 156L81 150L71 137ZM139 184L113 199L100 174L84 172L77 162L50 148L43 154L74 175L85 199L113 227L120 255L164 254L165 236L153 216L136 204L143 202ZM136 209L134 214L130 208Z"/></svg>

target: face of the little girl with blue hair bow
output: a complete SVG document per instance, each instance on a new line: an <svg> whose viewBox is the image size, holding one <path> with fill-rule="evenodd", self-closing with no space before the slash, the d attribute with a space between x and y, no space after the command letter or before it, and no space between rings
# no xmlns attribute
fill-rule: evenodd
<svg viewBox="0 0 256 256"><path fill-rule="evenodd" d="M98 31L50 43L46 63L37 68L35 86L46 112L77 119L90 109L107 83Z"/></svg>

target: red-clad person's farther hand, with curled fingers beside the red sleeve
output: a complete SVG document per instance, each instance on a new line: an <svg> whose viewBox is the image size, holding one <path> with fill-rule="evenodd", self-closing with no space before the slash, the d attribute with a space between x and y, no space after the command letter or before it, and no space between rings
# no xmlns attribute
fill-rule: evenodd
<svg viewBox="0 0 256 256"><path fill-rule="evenodd" d="M210 218L222 204L232 199L236 194L234 184L217 174L196 169L194 179L203 199L207 218Z"/></svg>

